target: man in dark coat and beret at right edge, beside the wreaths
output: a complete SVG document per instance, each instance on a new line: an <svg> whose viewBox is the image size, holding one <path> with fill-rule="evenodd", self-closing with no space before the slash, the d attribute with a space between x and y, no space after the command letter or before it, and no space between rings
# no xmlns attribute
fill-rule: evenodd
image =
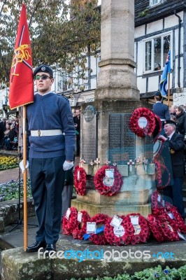
<svg viewBox="0 0 186 280"><path fill-rule="evenodd" d="M176 133L176 123L173 120L167 120L164 123L164 132L167 138L159 135L164 141L169 142L171 153L171 164L173 169L173 185L164 188L164 195L171 197L173 205L178 208L178 211L183 219L185 219L185 210L183 204L183 176L184 176L184 136Z"/></svg>

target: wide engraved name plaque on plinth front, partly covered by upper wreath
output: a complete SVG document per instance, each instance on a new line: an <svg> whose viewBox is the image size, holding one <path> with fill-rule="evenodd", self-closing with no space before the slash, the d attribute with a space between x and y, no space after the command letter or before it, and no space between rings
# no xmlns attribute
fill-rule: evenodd
<svg viewBox="0 0 186 280"><path fill-rule="evenodd" d="M109 114L109 150L108 158L117 165L127 165L129 160L135 160L135 137L129 129L129 113Z"/></svg>

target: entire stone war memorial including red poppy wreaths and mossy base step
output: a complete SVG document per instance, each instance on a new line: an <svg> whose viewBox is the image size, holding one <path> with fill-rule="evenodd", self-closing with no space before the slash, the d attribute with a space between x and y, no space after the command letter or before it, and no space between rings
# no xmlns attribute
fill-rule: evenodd
<svg viewBox="0 0 186 280"><path fill-rule="evenodd" d="M77 197L63 218L57 241L61 253L43 258L22 247L3 251L3 280L115 277L159 264L185 265L185 242L167 242L186 233L175 209L179 222L164 212L159 215L162 228L152 215L153 134L159 122L152 108L140 101L136 85L134 0L101 2L99 79L95 101L81 107L80 163L74 170ZM154 198L162 203L157 193ZM155 239L149 242L151 233ZM166 243L157 246L157 241ZM159 251L177 257L159 260L154 257Z"/></svg>

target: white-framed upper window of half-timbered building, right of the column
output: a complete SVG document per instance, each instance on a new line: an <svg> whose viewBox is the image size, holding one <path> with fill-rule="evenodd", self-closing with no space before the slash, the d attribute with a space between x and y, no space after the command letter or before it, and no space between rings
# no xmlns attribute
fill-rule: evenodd
<svg viewBox="0 0 186 280"><path fill-rule="evenodd" d="M145 72L162 70L170 47L171 34L164 34L145 41Z"/></svg>

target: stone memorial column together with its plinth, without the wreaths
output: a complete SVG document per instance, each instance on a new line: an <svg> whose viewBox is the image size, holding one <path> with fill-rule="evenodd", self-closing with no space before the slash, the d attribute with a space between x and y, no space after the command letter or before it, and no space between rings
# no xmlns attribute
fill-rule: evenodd
<svg viewBox="0 0 186 280"><path fill-rule="evenodd" d="M92 168L90 162L86 162L83 165L87 177L89 177L86 195L78 196L72 204L78 210L86 209L90 216L97 213L109 216L140 213L143 216L148 216L151 213L150 195L155 189L155 165L144 166L143 159L148 155L148 163L152 161L152 139L141 139L132 134L133 132L129 132L129 128L126 130L126 120L128 118L129 123L132 111L140 106L148 107L148 104L140 101L136 86L136 73L134 72L136 66L134 62L134 0L102 0L101 62L99 66L100 73L98 86L95 90L95 102L83 104L82 112L87 111L87 105L94 106L97 112L98 151L96 154L100 160L99 167L110 160L108 157L112 147L109 138L111 138L110 134L114 134L112 139L115 149L113 157L116 158L115 161L124 183L117 195L113 197L100 195L94 190L93 184L93 176L97 167L94 165ZM82 118L84 117L82 116ZM113 122L111 133L110 120ZM91 123L90 127L87 127L87 125L86 127L82 126L81 134L84 134L84 137L83 130L88 134L93 129ZM120 133L120 127L122 133ZM128 138L124 137L125 132L127 135L129 132ZM92 134L89 138L91 137ZM89 138L87 136L87 139ZM82 141L81 145L83 146L83 144L85 143ZM121 157L118 155L118 151L120 151ZM140 157L140 162L136 164L138 157ZM83 158L86 160L84 151ZM123 160L118 160L118 158ZM129 160L135 162L132 167L128 165ZM90 186L91 184L92 186Z"/></svg>

